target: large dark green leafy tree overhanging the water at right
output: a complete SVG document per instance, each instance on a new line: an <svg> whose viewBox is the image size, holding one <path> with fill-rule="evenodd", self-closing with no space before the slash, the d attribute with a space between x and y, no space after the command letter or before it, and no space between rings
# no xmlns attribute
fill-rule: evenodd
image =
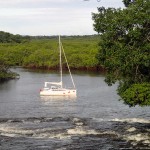
<svg viewBox="0 0 150 150"><path fill-rule="evenodd" d="M150 105L150 1L124 0L125 9L104 7L93 13L101 34L97 58L107 69L106 82L119 81L126 104Z"/></svg>

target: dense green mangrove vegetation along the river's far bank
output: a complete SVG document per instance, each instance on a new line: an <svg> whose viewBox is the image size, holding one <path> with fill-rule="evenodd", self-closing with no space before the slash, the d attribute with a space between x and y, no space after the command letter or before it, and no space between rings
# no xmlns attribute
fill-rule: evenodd
<svg viewBox="0 0 150 150"><path fill-rule="evenodd" d="M10 66L59 69L58 36L16 36L6 32L1 32L1 35L0 60L7 69ZM19 40L16 40L18 38ZM100 69L95 57L98 52L98 41L98 35L63 36L62 43L70 67L83 70ZM65 59L62 60L65 69L66 62ZM1 72L4 73L2 67ZM6 72L9 71L5 70Z"/></svg>

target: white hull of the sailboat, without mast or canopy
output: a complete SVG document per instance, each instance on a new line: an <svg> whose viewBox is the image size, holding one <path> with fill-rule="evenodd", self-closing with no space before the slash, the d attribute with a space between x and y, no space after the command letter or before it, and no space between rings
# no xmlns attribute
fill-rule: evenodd
<svg viewBox="0 0 150 150"><path fill-rule="evenodd" d="M41 96L69 96L69 95L76 96L76 90L75 89L61 89L61 90L43 89L40 90L40 95Z"/></svg>

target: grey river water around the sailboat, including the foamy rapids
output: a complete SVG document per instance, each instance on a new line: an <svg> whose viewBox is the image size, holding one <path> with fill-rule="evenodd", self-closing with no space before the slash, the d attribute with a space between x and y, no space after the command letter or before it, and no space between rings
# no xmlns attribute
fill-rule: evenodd
<svg viewBox="0 0 150 150"><path fill-rule="evenodd" d="M0 150L150 149L150 108L123 104L103 75L74 72L76 98L40 97L58 73L14 70L0 84Z"/></svg>

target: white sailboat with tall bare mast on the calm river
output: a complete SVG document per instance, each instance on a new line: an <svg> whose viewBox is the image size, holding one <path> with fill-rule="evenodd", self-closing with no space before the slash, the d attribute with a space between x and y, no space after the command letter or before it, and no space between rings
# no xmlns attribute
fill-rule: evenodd
<svg viewBox="0 0 150 150"><path fill-rule="evenodd" d="M60 41L59 36L59 51L60 51L60 82L45 82L44 88L40 90L41 96L76 96L76 87L75 83L69 68L69 64L65 55L65 51L63 49L62 43ZM64 54L67 67L70 73L71 81L73 84L73 88L64 88L63 87L63 81L62 81L62 52ZM49 85L49 86L48 86Z"/></svg>

